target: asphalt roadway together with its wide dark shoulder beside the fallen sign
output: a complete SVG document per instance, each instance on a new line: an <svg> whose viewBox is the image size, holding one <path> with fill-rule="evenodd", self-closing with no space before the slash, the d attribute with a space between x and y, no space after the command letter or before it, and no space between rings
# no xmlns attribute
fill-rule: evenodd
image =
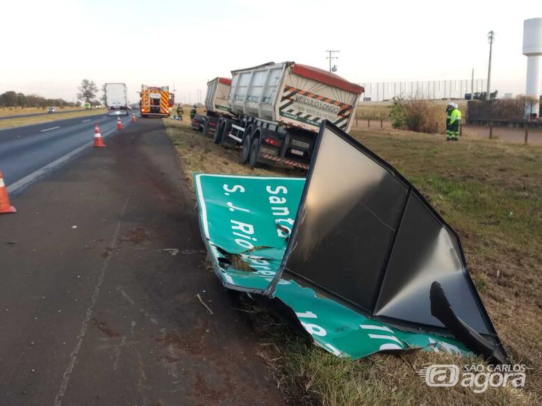
<svg viewBox="0 0 542 406"><path fill-rule="evenodd" d="M0 132L6 174L85 144L95 120L115 124L78 120ZM0 406L285 406L238 296L204 266L163 121L105 143L0 214Z"/></svg>

